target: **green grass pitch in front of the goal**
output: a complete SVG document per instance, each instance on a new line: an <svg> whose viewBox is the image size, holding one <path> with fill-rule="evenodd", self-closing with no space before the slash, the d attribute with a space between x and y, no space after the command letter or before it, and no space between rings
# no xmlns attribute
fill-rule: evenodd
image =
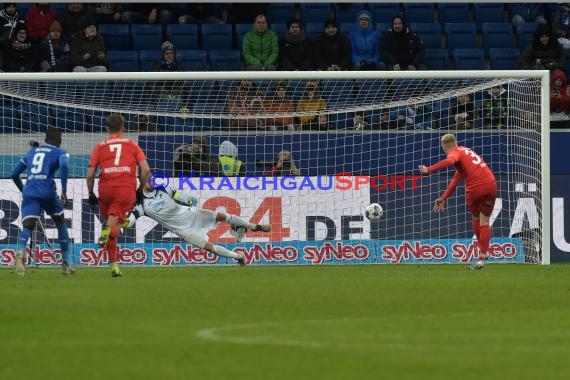
<svg viewBox="0 0 570 380"><path fill-rule="evenodd" d="M567 379L570 265L0 270L0 379Z"/></svg>

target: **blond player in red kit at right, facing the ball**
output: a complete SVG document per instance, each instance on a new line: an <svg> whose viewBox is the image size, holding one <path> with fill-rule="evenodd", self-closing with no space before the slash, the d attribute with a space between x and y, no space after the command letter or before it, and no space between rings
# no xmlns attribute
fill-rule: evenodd
<svg viewBox="0 0 570 380"><path fill-rule="evenodd" d="M441 147L447 153L447 158L426 167L418 166L420 172L427 174L453 165L455 175L440 198L435 200L433 210L440 212L444 209L445 201L453 193L461 178L465 180L467 207L471 211L473 231L479 242L479 256L474 269L482 269L484 260L488 257L487 250L491 241L489 219L497 197L497 181L483 158L473 150L457 145L454 135L448 133L441 138Z"/></svg>

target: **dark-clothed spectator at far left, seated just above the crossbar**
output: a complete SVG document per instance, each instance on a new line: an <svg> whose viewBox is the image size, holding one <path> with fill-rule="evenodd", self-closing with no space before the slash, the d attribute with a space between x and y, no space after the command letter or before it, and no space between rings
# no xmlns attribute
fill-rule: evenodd
<svg viewBox="0 0 570 380"><path fill-rule="evenodd" d="M24 24L18 23L15 38L4 50L4 71L6 72L37 72L40 69L40 57L28 39Z"/></svg>

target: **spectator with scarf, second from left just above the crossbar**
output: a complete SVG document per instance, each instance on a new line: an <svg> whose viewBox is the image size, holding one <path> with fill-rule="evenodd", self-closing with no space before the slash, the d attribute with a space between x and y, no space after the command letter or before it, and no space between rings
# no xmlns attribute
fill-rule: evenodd
<svg viewBox="0 0 570 380"><path fill-rule="evenodd" d="M61 37L61 31L60 22L53 21L49 27L49 34L42 42L40 49L43 55L41 71L69 71L69 42Z"/></svg>

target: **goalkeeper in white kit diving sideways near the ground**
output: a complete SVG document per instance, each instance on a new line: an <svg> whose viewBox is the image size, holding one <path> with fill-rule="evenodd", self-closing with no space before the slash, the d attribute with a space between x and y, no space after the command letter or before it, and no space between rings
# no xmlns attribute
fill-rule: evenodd
<svg viewBox="0 0 570 380"><path fill-rule="evenodd" d="M123 227L134 226L136 219L146 215L188 243L219 256L233 258L237 260L239 265L246 264L243 254L212 244L202 236L202 231L204 229L213 229L218 222L226 222L232 225L232 231L238 241L243 239L247 230L271 231L269 225L249 223L235 215L197 207L187 207L178 202L188 206L196 206L198 204L196 198L188 196L181 191L170 187L153 189L148 183L145 183L142 201L135 205ZM104 226L99 240L104 241L107 234L108 229Z"/></svg>

